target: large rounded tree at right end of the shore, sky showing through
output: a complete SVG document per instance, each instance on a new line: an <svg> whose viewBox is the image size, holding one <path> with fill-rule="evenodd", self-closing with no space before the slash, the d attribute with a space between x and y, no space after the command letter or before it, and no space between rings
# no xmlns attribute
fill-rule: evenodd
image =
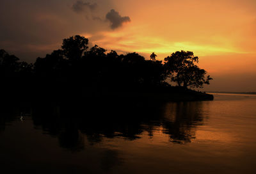
<svg viewBox="0 0 256 174"><path fill-rule="evenodd" d="M164 58L164 61L166 73L178 86L202 88L212 80L209 75L205 78L207 72L195 65L198 63L198 57L191 51L173 52L171 56Z"/></svg>

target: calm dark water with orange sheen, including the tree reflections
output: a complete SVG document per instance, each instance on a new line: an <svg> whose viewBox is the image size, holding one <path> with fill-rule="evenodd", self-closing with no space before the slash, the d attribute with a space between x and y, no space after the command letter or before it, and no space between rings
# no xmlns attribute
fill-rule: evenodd
<svg viewBox="0 0 256 174"><path fill-rule="evenodd" d="M0 172L256 173L256 96L214 97L3 106Z"/></svg>

